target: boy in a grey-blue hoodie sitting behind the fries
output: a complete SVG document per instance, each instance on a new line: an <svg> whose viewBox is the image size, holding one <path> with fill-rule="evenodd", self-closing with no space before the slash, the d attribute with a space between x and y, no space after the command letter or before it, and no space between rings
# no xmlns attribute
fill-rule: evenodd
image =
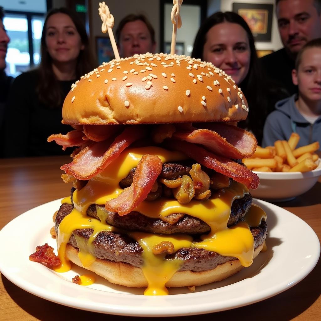
<svg viewBox="0 0 321 321"><path fill-rule="evenodd" d="M297 55L292 80L299 94L279 101L266 119L263 146L300 136L298 147L321 144L321 38L309 41Z"/></svg>

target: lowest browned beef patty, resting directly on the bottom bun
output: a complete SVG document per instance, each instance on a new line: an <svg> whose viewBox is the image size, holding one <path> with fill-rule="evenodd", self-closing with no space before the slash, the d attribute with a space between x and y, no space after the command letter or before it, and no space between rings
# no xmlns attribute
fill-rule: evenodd
<svg viewBox="0 0 321 321"><path fill-rule="evenodd" d="M56 232L63 218L70 214L73 209L71 204L62 204L56 215ZM77 247L76 238L88 240L91 236L92 229L74 230L69 244ZM255 241L255 248L260 246L267 236L267 226L262 221L260 226L251 228ZM91 254L100 258L115 262L125 262L136 267L143 265L143 249L140 245L125 233L101 231L93 241ZM230 260L236 260L235 257L221 256L216 252L207 251L199 248L181 248L176 253L166 256L166 258L177 258L183 261L179 271L190 270L194 272L207 271L214 269L217 265Z"/></svg>

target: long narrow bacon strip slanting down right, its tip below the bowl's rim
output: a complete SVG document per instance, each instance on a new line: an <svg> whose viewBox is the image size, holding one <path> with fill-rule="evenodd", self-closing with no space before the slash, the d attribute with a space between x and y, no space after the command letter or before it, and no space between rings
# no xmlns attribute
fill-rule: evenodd
<svg viewBox="0 0 321 321"><path fill-rule="evenodd" d="M244 184L247 188L257 188L259 184L258 176L245 166L242 166L228 158L208 152L206 149L198 145L184 141L168 140L166 142L166 147L183 152L201 165L231 177L235 181Z"/></svg>

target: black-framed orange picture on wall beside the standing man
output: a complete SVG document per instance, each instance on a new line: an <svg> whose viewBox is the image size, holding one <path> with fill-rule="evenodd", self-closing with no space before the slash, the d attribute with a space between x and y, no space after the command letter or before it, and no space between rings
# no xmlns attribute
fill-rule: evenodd
<svg viewBox="0 0 321 321"><path fill-rule="evenodd" d="M234 2L233 12L247 22L255 41L271 41L273 4Z"/></svg>

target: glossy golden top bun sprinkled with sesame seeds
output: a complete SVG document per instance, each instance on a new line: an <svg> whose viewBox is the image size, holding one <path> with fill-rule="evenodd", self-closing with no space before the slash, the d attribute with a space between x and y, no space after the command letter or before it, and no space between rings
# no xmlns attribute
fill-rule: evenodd
<svg viewBox="0 0 321 321"><path fill-rule="evenodd" d="M211 63L147 53L82 76L62 114L74 125L237 122L248 107L232 78Z"/></svg>

